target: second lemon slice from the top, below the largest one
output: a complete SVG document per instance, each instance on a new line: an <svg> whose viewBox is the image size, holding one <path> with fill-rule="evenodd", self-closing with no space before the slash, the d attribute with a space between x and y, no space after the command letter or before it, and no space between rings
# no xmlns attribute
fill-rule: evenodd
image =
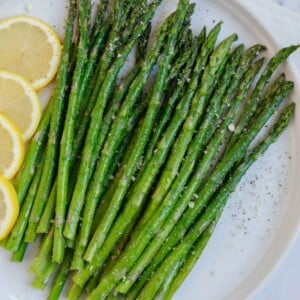
<svg viewBox="0 0 300 300"><path fill-rule="evenodd" d="M41 105L35 90L22 77L0 70L0 113L21 131L24 141L34 134L41 119Z"/></svg>

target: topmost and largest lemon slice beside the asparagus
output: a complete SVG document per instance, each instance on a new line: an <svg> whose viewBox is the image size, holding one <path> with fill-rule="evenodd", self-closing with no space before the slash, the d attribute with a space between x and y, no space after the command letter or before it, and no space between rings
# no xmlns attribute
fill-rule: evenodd
<svg viewBox="0 0 300 300"><path fill-rule="evenodd" d="M61 58L61 43L46 23L28 16L0 22L0 69L25 77L35 89L54 78Z"/></svg>

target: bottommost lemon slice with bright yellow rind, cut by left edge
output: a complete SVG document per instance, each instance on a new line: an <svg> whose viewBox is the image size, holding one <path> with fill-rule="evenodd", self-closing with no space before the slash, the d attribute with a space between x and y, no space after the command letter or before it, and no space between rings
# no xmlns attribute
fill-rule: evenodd
<svg viewBox="0 0 300 300"><path fill-rule="evenodd" d="M0 241L9 235L18 215L17 193L13 185L0 175Z"/></svg>

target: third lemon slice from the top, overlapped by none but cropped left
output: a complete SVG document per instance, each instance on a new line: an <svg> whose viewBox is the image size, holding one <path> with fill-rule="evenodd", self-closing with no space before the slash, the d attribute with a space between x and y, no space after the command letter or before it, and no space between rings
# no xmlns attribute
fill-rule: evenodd
<svg viewBox="0 0 300 300"><path fill-rule="evenodd" d="M10 179L20 169L24 159L24 142L19 129L0 114L0 175Z"/></svg>

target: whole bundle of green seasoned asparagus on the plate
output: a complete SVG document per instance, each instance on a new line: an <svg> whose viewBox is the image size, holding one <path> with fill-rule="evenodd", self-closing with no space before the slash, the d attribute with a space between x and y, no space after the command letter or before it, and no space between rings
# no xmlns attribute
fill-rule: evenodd
<svg viewBox="0 0 300 300"><path fill-rule="evenodd" d="M31 271L40 289L54 277L49 299L68 277L69 299L170 299L294 112L285 105L253 145L293 88L283 74L269 83L298 46L262 70L263 45L234 46L233 34L216 46L222 23L194 37L188 0L149 45L161 1L112 2L91 25L90 0L69 1L56 88L16 181L21 212L4 246L22 261L41 236Z"/></svg>

